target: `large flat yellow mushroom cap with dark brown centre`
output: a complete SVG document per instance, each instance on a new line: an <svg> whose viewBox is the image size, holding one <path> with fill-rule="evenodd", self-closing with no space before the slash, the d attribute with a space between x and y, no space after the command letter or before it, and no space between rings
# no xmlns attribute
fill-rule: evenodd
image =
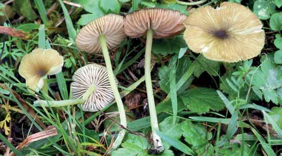
<svg viewBox="0 0 282 156"><path fill-rule="evenodd" d="M211 60L238 62L260 54L265 40L259 18L248 8L224 2L217 9L199 8L184 22L184 40Z"/></svg>

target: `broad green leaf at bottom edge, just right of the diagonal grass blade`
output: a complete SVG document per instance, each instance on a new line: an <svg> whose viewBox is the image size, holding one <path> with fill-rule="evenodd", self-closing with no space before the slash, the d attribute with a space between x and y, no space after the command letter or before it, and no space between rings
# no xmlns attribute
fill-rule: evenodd
<svg viewBox="0 0 282 156"><path fill-rule="evenodd" d="M199 123L192 123L187 120L182 123L181 129L183 131L185 141L192 145L192 149L196 151L196 153L200 154L205 151L203 149L207 149L207 152L211 152L210 150L212 150L213 153L213 146L209 144L211 133L208 133L202 125Z"/></svg>

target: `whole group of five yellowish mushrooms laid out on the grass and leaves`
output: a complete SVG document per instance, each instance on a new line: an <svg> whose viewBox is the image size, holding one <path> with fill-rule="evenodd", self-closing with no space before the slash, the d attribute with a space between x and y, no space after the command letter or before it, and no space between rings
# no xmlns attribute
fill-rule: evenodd
<svg viewBox="0 0 282 156"><path fill-rule="evenodd" d="M185 30L185 31L184 31ZM78 49L88 53L102 52L106 67L89 64L79 68L73 75L71 93L74 99L63 101L37 101L46 106L82 104L85 111L98 111L115 100L120 124L127 127L126 113L113 74L108 49L119 46L127 36L146 36L145 82L150 112L153 149L164 150L158 130L151 82L151 48L153 38L165 38L184 31L189 49L204 57L223 62L251 59L260 54L265 40L261 21L243 5L224 2L214 9L198 8L188 17L169 9L141 9L125 17L109 14L83 27L76 37ZM26 80L32 93L47 85L47 76L62 70L63 58L55 50L35 49L23 57L19 73ZM47 85L48 89L48 85ZM48 93L48 90L45 90ZM113 149L122 142L125 130L121 130Z"/></svg>

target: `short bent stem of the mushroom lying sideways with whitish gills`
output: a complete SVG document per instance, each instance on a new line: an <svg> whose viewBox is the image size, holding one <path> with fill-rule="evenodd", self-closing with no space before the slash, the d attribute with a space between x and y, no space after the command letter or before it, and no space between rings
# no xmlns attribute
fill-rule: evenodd
<svg viewBox="0 0 282 156"><path fill-rule="evenodd" d="M51 100L37 100L34 101L34 106L45 106L45 107L63 107L75 104L84 104L88 97L95 91L96 87L91 85L88 90L85 92L82 98L80 99L70 99L70 100L60 100L60 101L51 101Z"/></svg>

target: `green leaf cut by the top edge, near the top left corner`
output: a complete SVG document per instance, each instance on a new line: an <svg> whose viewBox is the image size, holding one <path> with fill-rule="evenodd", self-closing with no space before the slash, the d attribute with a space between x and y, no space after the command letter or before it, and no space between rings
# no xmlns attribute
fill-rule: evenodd
<svg viewBox="0 0 282 156"><path fill-rule="evenodd" d="M29 0L15 0L16 11L26 17L29 21L34 21L37 18L33 11Z"/></svg>

